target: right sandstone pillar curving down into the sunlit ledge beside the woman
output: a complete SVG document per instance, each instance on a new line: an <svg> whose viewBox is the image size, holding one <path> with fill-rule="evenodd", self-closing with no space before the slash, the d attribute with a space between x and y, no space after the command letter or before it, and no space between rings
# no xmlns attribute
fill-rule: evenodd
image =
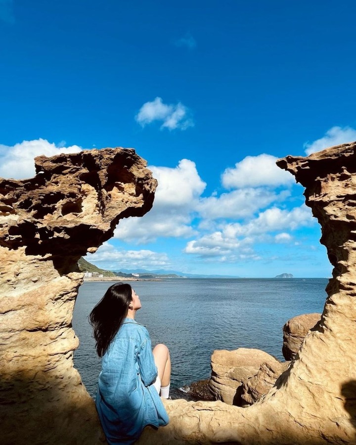
<svg viewBox="0 0 356 445"><path fill-rule="evenodd" d="M306 187L334 266L321 320L263 399L168 401L170 424L138 444L356 444L356 142L277 165Z"/></svg>

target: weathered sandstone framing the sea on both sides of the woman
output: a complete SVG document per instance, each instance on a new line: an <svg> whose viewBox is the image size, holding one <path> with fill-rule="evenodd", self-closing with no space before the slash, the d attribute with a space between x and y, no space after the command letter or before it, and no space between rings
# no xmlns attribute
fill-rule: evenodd
<svg viewBox="0 0 356 445"><path fill-rule="evenodd" d="M36 178L0 183L4 444L94 445L102 438L72 367L70 322L82 281L73 260L108 239L119 216L149 210L155 183L133 151L130 162L121 151L117 162L113 151L86 153L40 159ZM169 425L147 427L137 444L356 444L356 142L278 165L306 187L334 266L320 322L260 401L248 408L166 401Z"/></svg>

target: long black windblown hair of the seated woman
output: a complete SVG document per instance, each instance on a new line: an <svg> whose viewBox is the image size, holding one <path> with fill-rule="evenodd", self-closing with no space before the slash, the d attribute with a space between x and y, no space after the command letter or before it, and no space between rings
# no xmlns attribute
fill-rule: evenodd
<svg viewBox="0 0 356 445"><path fill-rule="evenodd" d="M127 316L132 301L130 284L113 284L89 314L97 355L102 357Z"/></svg>

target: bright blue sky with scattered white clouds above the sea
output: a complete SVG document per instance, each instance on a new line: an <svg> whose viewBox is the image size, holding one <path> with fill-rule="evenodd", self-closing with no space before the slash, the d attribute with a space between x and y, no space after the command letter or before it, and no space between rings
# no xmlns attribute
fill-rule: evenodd
<svg viewBox="0 0 356 445"><path fill-rule="evenodd" d="M354 1L0 0L0 175L134 147L159 188L99 267L330 276L274 166L356 140ZM307 151L306 151L307 150Z"/></svg>

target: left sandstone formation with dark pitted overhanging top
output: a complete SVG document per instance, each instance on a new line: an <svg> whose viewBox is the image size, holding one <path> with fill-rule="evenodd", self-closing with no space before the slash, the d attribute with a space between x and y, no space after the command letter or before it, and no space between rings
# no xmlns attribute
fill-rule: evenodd
<svg viewBox="0 0 356 445"><path fill-rule="evenodd" d="M133 149L35 161L34 178L0 179L1 444L99 444L72 360L77 262L121 218L149 211L157 182Z"/></svg>

